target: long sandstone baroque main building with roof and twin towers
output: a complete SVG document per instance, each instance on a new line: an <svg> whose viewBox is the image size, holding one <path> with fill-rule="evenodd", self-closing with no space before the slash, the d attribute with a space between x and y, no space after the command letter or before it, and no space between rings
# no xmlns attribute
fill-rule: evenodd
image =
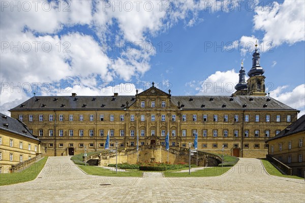
<svg viewBox="0 0 305 203"><path fill-rule="evenodd" d="M237 90L231 96L172 96L154 86L134 96L34 96L11 109L47 144L51 156L110 148L165 144L187 147L198 133L198 149L238 157L265 157L265 141L297 119L298 111L265 96L265 76L253 54L245 81L241 66Z"/></svg>

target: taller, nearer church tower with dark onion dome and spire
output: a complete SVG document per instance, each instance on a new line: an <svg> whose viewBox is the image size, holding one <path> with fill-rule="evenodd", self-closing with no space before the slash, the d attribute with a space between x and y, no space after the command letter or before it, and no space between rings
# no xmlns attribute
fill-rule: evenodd
<svg viewBox="0 0 305 203"><path fill-rule="evenodd" d="M259 52L257 50L257 44L255 45L255 52L252 54L252 69L248 72L250 77L247 80L248 83L248 95L251 96L265 96L265 70L259 64Z"/></svg>

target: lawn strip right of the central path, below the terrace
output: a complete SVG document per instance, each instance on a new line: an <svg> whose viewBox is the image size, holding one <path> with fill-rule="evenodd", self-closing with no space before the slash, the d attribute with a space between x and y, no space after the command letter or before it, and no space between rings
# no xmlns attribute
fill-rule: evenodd
<svg viewBox="0 0 305 203"><path fill-rule="evenodd" d="M210 177L210 176L220 176L227 171L230 170L231 167L210 167L205 168L203 170L198 170L196 172L189 172L187 173L171 173L171 172L164 172L165 177Z"/></svg>

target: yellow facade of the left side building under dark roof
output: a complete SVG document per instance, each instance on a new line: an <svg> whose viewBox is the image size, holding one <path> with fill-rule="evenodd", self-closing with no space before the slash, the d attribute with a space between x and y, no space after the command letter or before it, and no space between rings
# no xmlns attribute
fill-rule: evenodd
<svg viewBox="0 0 305 203"><path fill-rule="evenodd" d="M11 166L41 153L40 142L17 133L0 130L0 172L10 173Z"/></svg>

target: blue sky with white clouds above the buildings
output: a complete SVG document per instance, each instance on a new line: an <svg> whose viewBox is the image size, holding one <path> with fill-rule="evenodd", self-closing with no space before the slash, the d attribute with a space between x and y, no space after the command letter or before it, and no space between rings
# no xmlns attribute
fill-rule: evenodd
<svg viewBox="0 0 305 203"><path fill-rule="evenodd" d="M2 1L1 111L34 92L135 94L153 81L173 95L230 95L257 41L271 97L304 114L304 4Z"/></svg>

